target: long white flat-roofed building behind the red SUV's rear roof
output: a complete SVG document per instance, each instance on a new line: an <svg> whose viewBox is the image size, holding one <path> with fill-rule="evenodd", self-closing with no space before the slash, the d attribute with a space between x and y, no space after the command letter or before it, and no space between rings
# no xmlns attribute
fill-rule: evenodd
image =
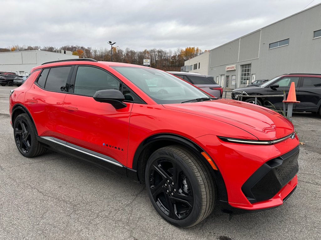
<svg viewBox="0 0 321 240"><path fill-rule="evenodd" d="M70 51L58 50L59 52L47 52L41 50L0 52L0 71L14 72L16 74L29 74L30 69L45 62L76 59Z"/></svg>

